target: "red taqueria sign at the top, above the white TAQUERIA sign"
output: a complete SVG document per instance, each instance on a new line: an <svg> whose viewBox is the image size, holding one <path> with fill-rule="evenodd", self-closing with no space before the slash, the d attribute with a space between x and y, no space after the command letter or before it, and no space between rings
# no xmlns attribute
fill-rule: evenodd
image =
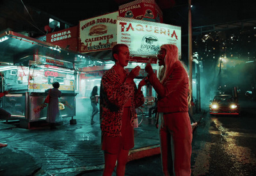
<svg viewBox="0 0 256 176"><path fill-rule="evenodd" d="M163 12L154 0L136 0L119 6L119 16L147 20L150 22L163 22Z"/></svg>

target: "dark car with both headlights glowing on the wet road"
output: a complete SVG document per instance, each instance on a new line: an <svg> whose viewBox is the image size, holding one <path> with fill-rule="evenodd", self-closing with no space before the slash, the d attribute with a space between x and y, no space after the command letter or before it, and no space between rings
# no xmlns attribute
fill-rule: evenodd
<svg viewBox="0 0 256 176"><path fill-rule="evenodd" d="M241 107L230 94L219 94L210 101L209 112L211 115L239 115Z"/></svg>

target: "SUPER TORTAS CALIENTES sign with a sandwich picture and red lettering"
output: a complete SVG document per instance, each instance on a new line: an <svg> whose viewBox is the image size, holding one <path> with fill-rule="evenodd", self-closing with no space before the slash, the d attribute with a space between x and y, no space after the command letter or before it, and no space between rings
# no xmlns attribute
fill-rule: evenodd
<svg viewBox="0 0 256 176"><path fill-rule="evenodd" d="M79 22L79 52L109 50L116 45L118 11Z"/></svg>

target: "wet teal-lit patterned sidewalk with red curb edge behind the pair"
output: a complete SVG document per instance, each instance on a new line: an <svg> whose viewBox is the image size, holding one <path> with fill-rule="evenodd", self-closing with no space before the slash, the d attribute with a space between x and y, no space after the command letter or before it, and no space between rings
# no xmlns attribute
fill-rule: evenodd
<svg viewBox="0 0 256 176"><path fill-rule="evenodd" d="M196 121L199 115L194 115ZM42 122L22 129L0 121L0 175L77 175L90 170L103 170L104 155L100 149L99 115L94 123L90 115L77 114L77 124L71 118L51 130ZM160 154L158 129L146 118L134 128L135 146L129 161Z"/></svg>

